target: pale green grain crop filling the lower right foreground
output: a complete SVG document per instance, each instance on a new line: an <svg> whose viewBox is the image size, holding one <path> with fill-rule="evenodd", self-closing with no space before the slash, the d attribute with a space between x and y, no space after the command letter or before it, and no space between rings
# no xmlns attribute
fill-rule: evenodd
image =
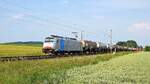
<svg viewBox="0 0 150 84"><path fill-rule="evenodd" d="M150 84L150 53L130 54L66 74L64 84Z"/></svg>

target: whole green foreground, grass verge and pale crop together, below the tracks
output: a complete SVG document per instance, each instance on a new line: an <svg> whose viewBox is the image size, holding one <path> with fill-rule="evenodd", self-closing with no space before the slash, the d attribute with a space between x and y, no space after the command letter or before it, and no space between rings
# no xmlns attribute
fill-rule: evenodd
<svg viewBox="0 0 150 84"><path fill-rule="evenodd" d="M150 83L149 60L149 52L122 52L1 62L0 84L145 84Z"/></svg>

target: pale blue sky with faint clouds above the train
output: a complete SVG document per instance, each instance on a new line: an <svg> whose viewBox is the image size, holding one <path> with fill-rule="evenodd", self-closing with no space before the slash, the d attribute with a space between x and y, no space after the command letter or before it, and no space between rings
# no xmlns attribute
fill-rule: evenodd
<svg viewBox="0 0 150 84"><path fill-rule="evenodd" d="M0 0L0 42L43 41L51 34L150 45L150 0Z"/></svg>

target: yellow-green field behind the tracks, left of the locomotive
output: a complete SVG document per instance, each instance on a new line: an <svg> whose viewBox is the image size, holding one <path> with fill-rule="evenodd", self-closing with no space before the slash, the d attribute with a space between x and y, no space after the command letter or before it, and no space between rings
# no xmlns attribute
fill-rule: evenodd
<svg viewBox="0 0 150 84"><path fill-rule="evenodd" d="M42 47L30 45L0 45L0 56L43 55Z"/></svg>

